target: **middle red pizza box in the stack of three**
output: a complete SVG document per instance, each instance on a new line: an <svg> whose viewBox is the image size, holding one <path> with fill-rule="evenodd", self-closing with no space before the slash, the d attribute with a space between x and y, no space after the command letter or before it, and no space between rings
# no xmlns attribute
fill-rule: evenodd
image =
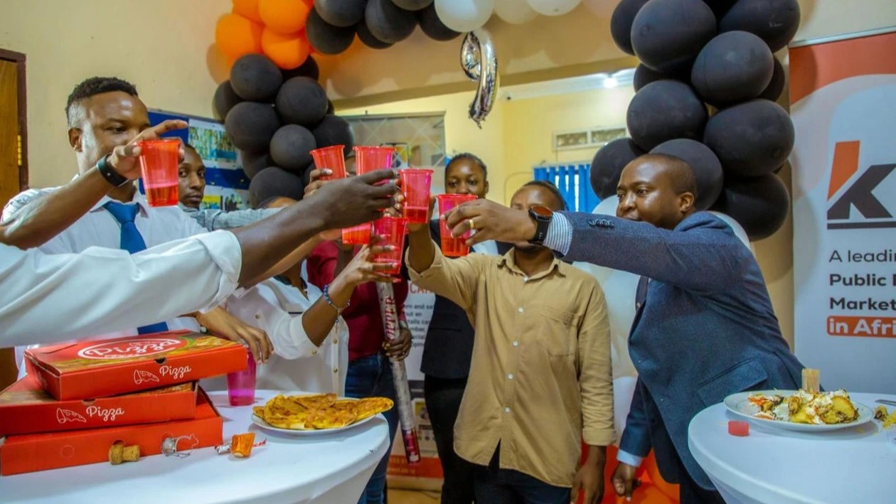
<svg viewBox="0 0 896 504"><path fill-rule="evenodd" d="M196 415L196 389L191 382L123 396L57 401L38 380L26 376L0 392L0 436L189 420Z"/></svg>

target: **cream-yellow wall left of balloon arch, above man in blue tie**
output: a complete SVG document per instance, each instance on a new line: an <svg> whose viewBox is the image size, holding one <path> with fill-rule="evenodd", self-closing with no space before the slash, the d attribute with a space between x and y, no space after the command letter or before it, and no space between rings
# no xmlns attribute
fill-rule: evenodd
<svg viewBox="0 0 896 504"><path fill-rule="evenodd" d="M28 58L30 185L77 173L65 98L87 77L132 81L148 107L211 115L207 54L229 9L228 0L4 0L0 47Z"/></svg>

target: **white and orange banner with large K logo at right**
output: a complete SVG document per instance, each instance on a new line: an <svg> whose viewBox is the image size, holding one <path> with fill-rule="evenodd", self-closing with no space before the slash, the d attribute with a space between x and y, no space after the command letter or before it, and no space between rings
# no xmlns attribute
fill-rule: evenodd
<svg viewBox="0 0 896 504"><path fill-rule="evenodd" d="M896 29L790 49L795 352L896 393Z"/></svg>

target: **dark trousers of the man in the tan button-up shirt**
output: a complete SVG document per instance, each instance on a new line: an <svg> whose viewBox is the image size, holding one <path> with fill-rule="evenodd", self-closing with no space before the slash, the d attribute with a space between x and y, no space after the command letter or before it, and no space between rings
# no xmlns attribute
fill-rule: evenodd
<svg viewBox="0 0 896 504"><path fill-rule="evenodd" d="M554 486L499 466L500 446L488 467L476 473L476 501L487 504L569 504L572 488Z"/></svg>

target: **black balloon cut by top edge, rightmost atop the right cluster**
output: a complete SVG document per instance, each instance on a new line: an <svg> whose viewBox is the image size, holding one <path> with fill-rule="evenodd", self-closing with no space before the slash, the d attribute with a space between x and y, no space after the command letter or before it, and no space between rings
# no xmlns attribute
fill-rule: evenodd
<svg viewBox="0 0 896 504"><path fill-rule="evenodd" d="M749 31L765 40L771 52L786 47L798 28L797 0L737 0L719 20L719 31Z"/></svg>

